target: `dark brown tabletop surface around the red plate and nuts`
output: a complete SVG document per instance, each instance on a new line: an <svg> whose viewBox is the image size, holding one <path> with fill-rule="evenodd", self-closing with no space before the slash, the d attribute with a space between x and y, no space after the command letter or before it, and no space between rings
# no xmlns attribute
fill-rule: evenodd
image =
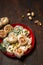
<svg viewBox="0 0 43 65"><path fill-rule="evenodd" d="M28 9L36 14L33 21L29 21L26 16ZM0 65L43 65L43 27L34 24L36 19L43 24L43 0L0 0L0 17L3 16L9 17L10 23L30 26L35 34L36 44L34 50L20 60L8 58L0 52Z"/></svg>

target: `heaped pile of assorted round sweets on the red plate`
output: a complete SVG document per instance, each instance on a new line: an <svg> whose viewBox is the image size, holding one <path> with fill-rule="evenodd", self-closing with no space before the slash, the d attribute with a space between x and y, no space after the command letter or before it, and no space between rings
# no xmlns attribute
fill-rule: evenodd
<svg viewBox="0 0 43 65"><path fill-rule="evenodd" d="M21 58L28 49L32 48L32 37L28 29L20 25L12 27L8 24L4 27L4 31L8 34L4 37L2 46L7 52Z"/></svg>

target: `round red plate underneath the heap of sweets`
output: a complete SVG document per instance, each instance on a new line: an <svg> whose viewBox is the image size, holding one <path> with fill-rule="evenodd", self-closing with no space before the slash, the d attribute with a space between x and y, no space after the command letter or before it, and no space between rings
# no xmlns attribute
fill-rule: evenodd
<svg viewBox="0 0 43 65"><path fill-rule="evenodd" d="M34 34L33 34L33 31L31 30L31 28L29 26L25 26L23 24L11 24L13 27L15 27L16 25L20 25L22 26L23 28L26 28L30 31L30 37L32 37L32 48L31 49L28 49L24 55L27 55L28 53L30 53L30 51L34 48L34 44L35 44L35 38L34 38ZM0 39L0 42L2 42L2 39ZM3 52L5 55L9 56L9 57L16 57L14 54L11 54L9 52Z"/></svg>

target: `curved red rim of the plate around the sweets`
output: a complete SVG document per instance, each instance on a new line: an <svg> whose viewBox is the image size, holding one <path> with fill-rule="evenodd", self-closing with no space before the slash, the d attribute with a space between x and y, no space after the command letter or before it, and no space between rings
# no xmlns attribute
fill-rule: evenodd
<svg viewBox="0 0 43 65"><path fill-rule="evenodd" d="M34 45L35 45L35 36L34 36L34 32L32 31L32 29L29 27L29 26L27 26L27 25L25 25L25 24L20 24L20 23L13 23L13 24L11 24L13 27L15 27L16 25L20 25L20 26L23 26L24 28L26 28L26 29L28 29L28 30L30 30L30 32L32 33L32 37L33 37L33 45L32 45L32 48L31 49L29 49L29 51L26 51L25 52L25 54L24 55L27 55L27 54L29 54L31 51L32 51L32 49L34 48ZM4 53L4 55L7 55L8 57L16 57L14 54L11 54L11 53L9 53L9 52L3 52L3 51L1 51L2 53Z"/></svg>

